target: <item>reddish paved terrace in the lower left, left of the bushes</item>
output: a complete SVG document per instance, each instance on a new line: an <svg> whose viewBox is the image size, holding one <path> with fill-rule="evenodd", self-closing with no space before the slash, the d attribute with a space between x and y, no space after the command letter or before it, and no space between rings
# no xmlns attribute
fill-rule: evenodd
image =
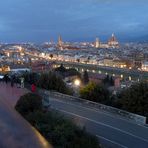
<svg viewBox="0 0 148 148"><path fill-rule="evenodd" d="M27 90L0 82L0 148L50 148L48 142L14 109Z"/></svg>

